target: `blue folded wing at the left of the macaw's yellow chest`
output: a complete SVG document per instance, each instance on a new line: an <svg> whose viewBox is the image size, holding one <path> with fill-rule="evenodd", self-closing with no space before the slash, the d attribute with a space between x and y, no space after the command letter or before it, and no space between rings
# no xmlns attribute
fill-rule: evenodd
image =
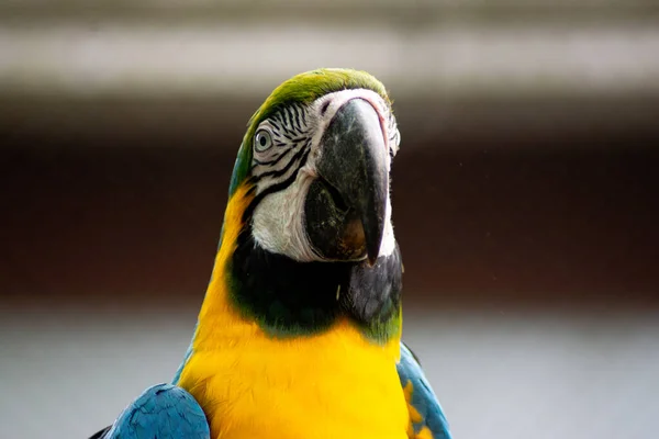
<svg viewBox="0 0 659 439"><path fill-rule="evenodd" d="M209 423L201 406L183 389L157 384L129 405L105 439L209 439Z"/></svg>

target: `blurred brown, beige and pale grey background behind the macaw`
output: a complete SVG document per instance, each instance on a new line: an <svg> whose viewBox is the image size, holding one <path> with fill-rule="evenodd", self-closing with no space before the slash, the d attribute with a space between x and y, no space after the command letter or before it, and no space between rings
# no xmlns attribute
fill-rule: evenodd
<svg viewBox="0 0 659 439"><path fill-rule="evenodd" d="M2 438L86 438L171 379L245 124L380 78L404 337L456 438L654 438L659 4L0 3Z"/></svg>

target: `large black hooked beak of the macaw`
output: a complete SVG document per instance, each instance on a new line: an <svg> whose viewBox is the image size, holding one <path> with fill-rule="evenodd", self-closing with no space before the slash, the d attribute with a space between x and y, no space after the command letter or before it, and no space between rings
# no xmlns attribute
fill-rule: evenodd
<svg viewBox="0 0 659 439"><path fill-rule="evenodd" d="M333 260L378 259L387 203L387 144L373 106L353 99L338 109L321 140L319 178L304 213L314 250Z"/></svg>

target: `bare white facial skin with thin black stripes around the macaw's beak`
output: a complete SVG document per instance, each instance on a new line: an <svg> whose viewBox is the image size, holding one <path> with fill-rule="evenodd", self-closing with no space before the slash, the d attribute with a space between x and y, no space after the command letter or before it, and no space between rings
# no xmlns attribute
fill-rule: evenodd
<svg viewBox="0 0 659 439"><path fill-rule="evenodd" d="M400 134L389 106L372 90L337 91L306 106L293 105L272 120L264 121L256 132L266 130L272 136L272 147L254 151L253 175L259 178L257 195L272 185L286 184L297 172L288 187L268 193L254 211L254 239L264 249L301 262L326 260L313 250L309 241L304 227L304 203L309 187L317 176L315 164L322 155L323 134L338 109L353 99L369 102L378 113L384 146L389 149L386 162L387 171L390 171L391 156L398 151ZM302 160L305 162L300 167ZM290 161L293 162L287 167ZM391 255L394 248L391 198L388 195L380 256Z"/></svg>

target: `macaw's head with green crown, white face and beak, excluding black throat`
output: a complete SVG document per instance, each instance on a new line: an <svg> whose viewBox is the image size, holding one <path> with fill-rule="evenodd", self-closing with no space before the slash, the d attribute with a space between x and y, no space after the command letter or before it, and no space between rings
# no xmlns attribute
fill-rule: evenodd
<svg viewBox="0 0 659 439"><path fill-rule="evenodd" d="M381 82L322 69L279 86L254 114L231 192L253 187L254 243L299 262L373 264L395 246L389 172L400 144Z"/></svg>

